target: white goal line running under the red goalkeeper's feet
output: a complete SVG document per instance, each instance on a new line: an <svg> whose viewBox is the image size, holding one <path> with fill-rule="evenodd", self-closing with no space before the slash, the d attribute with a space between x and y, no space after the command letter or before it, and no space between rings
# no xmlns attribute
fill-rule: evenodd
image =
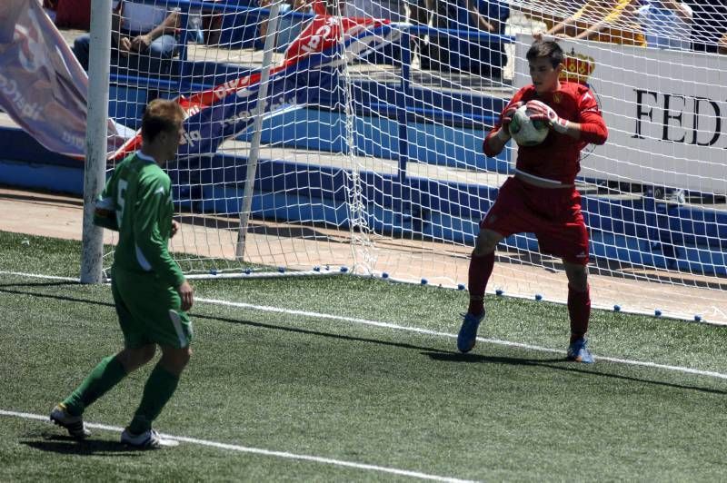
<svg viewBox="0 0 727 483"><path fill-rule="evenodd" d="M25 277L34 277L34 278L40 278L40 279L53 279L53 280L67 280L67 281L78 281L78 279L73 279L69 277L55 277L51 275L36 275L36 274L29 274L29 273L20 273L15 271L0 271L0 275L19 275L19 276L25 276ZM217 299L202 299L202 298L195 298L195 302L202 302L202 303L210 303L214 305L223 305L226 307L236 307L239 309L247 309L252 311L266 311L266 312L274 312L274 313L284 313L287 315L300 315L302 317L311 317L314 319L325 319L325 320L341 320L344 322L354 323L354 324L361 324L361 325L368 325L372 327L380 327L383 329L392 329L392 330L404 330L407 332L415 332L419 334L426 334L426 335L432 335L435 337L446 337L450 339L456 339L457 334L450 334L447 332L440 332L437 330L429 330L429 329L422 329L419 327L407 327L403 325L397 325L389 322L380 322L377 320L365 320L365 319L356 319L353 317L344 317L341 315L331 315L331 314L325 314L320 312L312 312L312 311L294 311L291 309L284 309L281 307L269 307L264 305L253 305L251 303L245 303L245 302L234 302L234 301L221 301ZM526 350L536 350L541 352L550 352L553 354L565 354L565 350L558 350L558 349L549 349L546 347L540 347L535 346L532 344L524 344L522 342L512 342L509 340L498 340L498 339L485 339L483 337L478 337L478 341L488 343L488 344L495 344L495 345L501 345L505 347L517 347L520 349L526 349ZM697 370L697 369L691 369L691 368L684 368L681 366L670 366L666 364L657 364L656 362L649 362L649 361L641 361L641 360L628 360L628 359L618 359L618 358L612 358L612 357L606 357L606 356L600 356L594 354L596 359L598 360L607 360L609 362L615 362L618 364L626 364L630 366L641 366L641 367L647 367L647 368L654 368L654 369L661 369L661 370L672 370L675 372L683 372L685 374L694 374L697 376L706 376L721 380L727 380L727 374L724 374L722 372L714 372L712 370Z"/></svg>

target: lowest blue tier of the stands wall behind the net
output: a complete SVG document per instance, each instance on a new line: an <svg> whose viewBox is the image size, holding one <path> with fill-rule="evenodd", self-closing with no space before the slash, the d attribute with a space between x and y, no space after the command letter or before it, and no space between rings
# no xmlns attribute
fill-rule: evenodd
<svg viewBox="0 0 727 483"><path fill-rule="evenodd" d="M0 129L8 146L0 183L58 192L83 192L78 160L48 153L17 129ZM41 160L40 162L38 160ZM211 163L172 166L180 211L237 213L246 175L244 158L216 155ZM229 182L235 180L235 182ZM260 160L254 184L255 218L316 222L347 228L344 170L284 160ZM361 173L365 212L374 232L473 245L477 224L497 188L394 175ZM596 258L698 274L727 275L727 213L659 202L583 196ZM533 235L509 237L511 248L537 250Z"/></svg>

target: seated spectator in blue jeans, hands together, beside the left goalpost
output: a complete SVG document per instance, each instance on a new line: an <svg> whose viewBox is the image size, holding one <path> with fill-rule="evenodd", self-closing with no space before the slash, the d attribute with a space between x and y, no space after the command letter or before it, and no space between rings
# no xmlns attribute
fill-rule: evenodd
<svg viewBox="0 0 727 483"><path fill-rule="evenodd" d="M115 1L112 8L112 53L116 52L122 57L128 57L129 54L146 54L153 59L174 57L178 9L136 4L131 0ZM75 39L74 54L85 70L88 70L90 49L89 34Z"/></svg>

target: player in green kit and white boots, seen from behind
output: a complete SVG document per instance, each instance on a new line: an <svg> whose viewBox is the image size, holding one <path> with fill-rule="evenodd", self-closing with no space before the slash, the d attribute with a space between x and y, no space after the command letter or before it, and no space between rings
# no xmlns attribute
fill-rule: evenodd
<svg viewBox="0 0 727 483"><path fill-rule="evenodd" d="M51 412L50 419L84 439L90 435L83 413L120 380L162 358L144 386L144 394L122 443L135 448L175 446L152 429L152 422L172 397L191 350L194 291L168 251L179 229L172 220L171 181L162 166L174 159L184 134L184 112L174 101L155 100L142 118L142 148L116 166L96 203L95 222L119 232L111 291L124 349L102 360L81 385Z"/></svg>

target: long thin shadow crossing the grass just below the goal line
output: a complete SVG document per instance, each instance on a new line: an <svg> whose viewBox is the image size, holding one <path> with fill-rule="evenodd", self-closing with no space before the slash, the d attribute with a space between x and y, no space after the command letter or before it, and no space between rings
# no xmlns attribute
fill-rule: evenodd
<svg viewBox="0 0 727 483"><path fill-rule="evenodd" d="M75 282L38 283L38 284L23 284L23 285L7 284L7 285L0 285L0 287L47 286L47 285L65 285L65 284L75 284ZM34 297L48 298L48 299L54 299L54 300L58 300L58 301L73 301L73 302L87 303L87 304L92 304L92 305L100 305L100 306L105 306L105 307L114 307L114 304L109 303L109 302L93 301L93 300L88 300L88 299L80 299L80 298L76 298L76 297L54 295L54 294L49 294L49 293L35 293L32 291L18 291L18 290L11 290L11 289L7 289L7 288L0 288L0 293L3 293L3 292L30 295L30 296L34 296ZM667 387L667 388L689 389L689 390L696 390L696 391L710 393L710 394L727 395L727 391L720 390L720 389L701 388L698 386L687 386L687 385L682 385L682 384L674 384L671 382L662 382L662 381L658 381L658 380L645 380L645 379L639 379L639 378L632 378L629 376L622 376L619 374L609 374L609 373L605 373L605 372L599 372L598 370L596 370L599 367L598 364L596 364L595 366L576 364L573 362L567 362L565 360L565 358L523 359L523 358L507 358L507 357L488 357L488 356L483 356L480 354L473 354L473 353L462 354L462 353L454 351L454 350L452 350L452 351L439 350L436 348L423 347L423 346L408 344L408 343L404 343L404 342L393 342L390 340L378 340L378 339L370 339L370 338L364 338L364 337L354 337L354 336L337 334L337 333L333 333L333 332L322 332L320 330L308 330L308 329L300 329L297 327L274 325L274 324L268 324L268 323L263 323L263 322L254 322L252 320L237 320L237 319L230 319L230 318L226 318L226 317L202 315L199 313L194 313L193 318L201 319L201 320L219 320L221 322L244 325L247 327L255 327L255 328L259 328L259 329L268 329L268 330L282 330L284 332L291 332L291 333L298 333L298 334L305 334L305 335L314 335L314 336L326 337L326 338L335 339L335 340L351 340L351 341L356 341L356 342L368 342L368 343L372 343L372 344L389 346L389 347L398 347L398 348L402 348L402 349L420 350L423 355L428 356L432 360L443 360L443 361L449 361L449 362L470 362L470 363L472 363L472 362L496 363L496 364L522 365L522 366L529 365L529 366L548 368L548 369L552 369L552 370L563 370L566 372L580 373L580 374L584 374L584 375L587 374L587 375L591 375L591 376L595 376L595 377L613 378L613 379L618 379L618 380L631 380L634 382L642 382L644 384L653 384L653 385L663 386L663 387Z"/></svg>

